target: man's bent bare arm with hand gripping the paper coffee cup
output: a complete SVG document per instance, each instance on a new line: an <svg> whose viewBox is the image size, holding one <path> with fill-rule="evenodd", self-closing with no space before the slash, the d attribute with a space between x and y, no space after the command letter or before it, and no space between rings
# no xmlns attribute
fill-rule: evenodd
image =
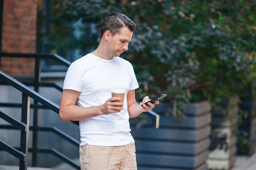
<svg viewBox="0 0 256 170"><path fill-rule="evenodd" d="M76 106L76 100L79 97L79 95L79 91L69 89L63 90L59 110L61 120L79 121L83 119L89 119L91 117L96 117L99 115L118 113L124 109L122 103L115 102L116 100L120 100L120 98L118 97L112 97L100 106Z"/></svg>

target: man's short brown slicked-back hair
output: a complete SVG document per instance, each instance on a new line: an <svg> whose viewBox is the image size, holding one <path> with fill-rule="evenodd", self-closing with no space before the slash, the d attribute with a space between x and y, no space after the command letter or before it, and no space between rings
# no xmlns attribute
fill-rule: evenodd
<svg viewBox="0 0 256 170"><path fill-rule="evenodd" d="M136 24L122 13L112 13L108 15L102 22L101 25L101 38L103 34L108 30L115 35L120 32L120 29L123 27L128 28L134 33L136 29Z"/></svg>

